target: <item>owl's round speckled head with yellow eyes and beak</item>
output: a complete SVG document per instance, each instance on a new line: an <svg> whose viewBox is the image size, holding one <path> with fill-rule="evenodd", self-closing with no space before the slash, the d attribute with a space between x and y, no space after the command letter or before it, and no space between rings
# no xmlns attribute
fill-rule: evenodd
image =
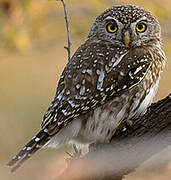
<svg viewBox="0 0 171 180"><path fill-rule="evenodd" d="M88 39L133 47L160 42L160 35L160 24L148 11L137 6L120 5L107 9L97 17Z"/></svg>

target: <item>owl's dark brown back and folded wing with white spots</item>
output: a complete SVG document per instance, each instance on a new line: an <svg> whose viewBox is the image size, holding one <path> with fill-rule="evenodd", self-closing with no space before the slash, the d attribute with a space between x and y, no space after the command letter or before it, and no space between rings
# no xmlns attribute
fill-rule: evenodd
<svg viewBox="0 0 171 180"><path fill-rule="evenodd" d="M91 111L140 83L152 55L146 48L115 48L109 43L85 43L64 69L55 99L44 115L50 135L75 117Z"/></svg>

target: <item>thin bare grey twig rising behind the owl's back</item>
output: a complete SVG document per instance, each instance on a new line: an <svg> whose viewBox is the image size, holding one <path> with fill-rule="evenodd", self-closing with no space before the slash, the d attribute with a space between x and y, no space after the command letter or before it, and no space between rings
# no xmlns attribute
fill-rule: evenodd
<svg viewBox="0 0 171 180"><path fill-rule="evenodd" d="M59 0L57 0L59 1ZM67 15L67 8L64 0L61 0L63 7L64 7L64 18L66 23L66 30L67 30L67 39L68 39L68 46L64 46L64 48L68 52L68 61L70 61L71 58L71 41L70 41L70 30L69 30L69 22L68 22L68 15Z"/></svg>

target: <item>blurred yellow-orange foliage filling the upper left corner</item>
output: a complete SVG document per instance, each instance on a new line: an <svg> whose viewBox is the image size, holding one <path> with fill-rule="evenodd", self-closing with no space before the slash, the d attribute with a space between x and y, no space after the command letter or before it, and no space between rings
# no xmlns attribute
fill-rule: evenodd
<svg viewBox="0 0 171 180"><path fill-rule="evenodd" d="M41 34L45 19L53 11L51 3L39 0L1 0L1 43L6 48L27 51Z"/></svg>

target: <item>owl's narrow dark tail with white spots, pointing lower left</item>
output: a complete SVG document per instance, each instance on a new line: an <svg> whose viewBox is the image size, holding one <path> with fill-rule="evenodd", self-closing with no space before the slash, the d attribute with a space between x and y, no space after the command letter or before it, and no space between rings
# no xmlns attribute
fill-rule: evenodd
<svg viewBox="0 0 171 180"><path fill-rule="evenodd" d="M47 128L43 128L26 146L7 164L11 167L11 172L18 169L27 159L29 159L35 152L37 152L42 146L44 146L49 140Z"/></svg>

